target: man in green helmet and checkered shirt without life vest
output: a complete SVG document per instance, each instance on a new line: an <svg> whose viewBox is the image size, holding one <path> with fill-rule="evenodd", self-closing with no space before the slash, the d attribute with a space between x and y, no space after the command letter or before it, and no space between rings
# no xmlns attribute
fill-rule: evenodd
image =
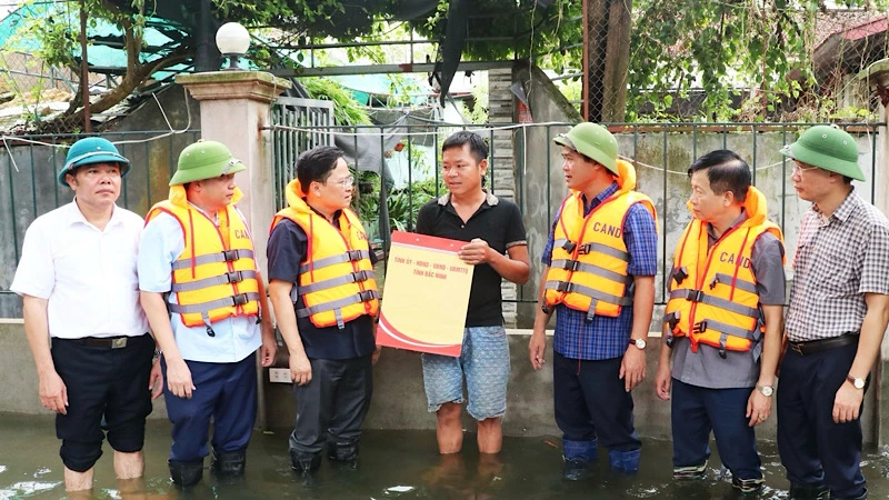
<svg viewBox="0 0 889 500"><path fill-rule="evenodd" d="M781 153L812 202L800 222L778 384L778 450L790 498L865 499L862 399L889 321L889 221L862 200L858 148L817 126Z"/></svg>

